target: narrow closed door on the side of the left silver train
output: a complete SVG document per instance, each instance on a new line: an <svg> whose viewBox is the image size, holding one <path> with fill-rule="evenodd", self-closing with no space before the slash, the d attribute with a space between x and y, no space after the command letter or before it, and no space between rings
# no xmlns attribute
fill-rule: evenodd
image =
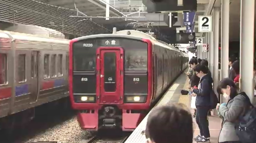
<svg viewBox="0 0 256 143"><path fill-rule="evenodd" d="M30 102L36 102L38 97L38 86L39 86L39 78L38 78L38 69L39 69L39 51L31 52L31 94L30 94Z"/></svg>

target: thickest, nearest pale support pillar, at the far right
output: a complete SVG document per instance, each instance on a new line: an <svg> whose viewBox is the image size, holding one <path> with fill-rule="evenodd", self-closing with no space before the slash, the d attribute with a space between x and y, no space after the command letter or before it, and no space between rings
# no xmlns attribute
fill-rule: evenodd
<svg viewBox="0 0 256 143"><path fill-rule="evenodd" d="M239 86L253 103L253 54L255 1L241 0Z"/></svg>

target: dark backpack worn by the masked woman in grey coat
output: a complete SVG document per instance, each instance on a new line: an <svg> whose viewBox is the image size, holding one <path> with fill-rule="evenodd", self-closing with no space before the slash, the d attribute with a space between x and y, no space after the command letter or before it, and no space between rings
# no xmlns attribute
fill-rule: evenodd
<svg viewBox="0 0 256 143"><path fill-rule="evenodd" d="M245 94L243 92L243 94ZM246 143L256 142L256 108L250 102L250 99L245 94L240 94L245 97L247 104L250 108L238 118L238 124L235 126L235 130L239 140Z"/></svg>

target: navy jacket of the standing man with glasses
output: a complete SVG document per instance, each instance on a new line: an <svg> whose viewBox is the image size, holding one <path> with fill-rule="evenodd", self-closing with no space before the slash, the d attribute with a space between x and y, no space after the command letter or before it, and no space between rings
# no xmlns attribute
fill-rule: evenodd
<svg viewBox="0 0 256 143"><path fill-rule="evenodd" d="M210 93L212 92L213 79L207 74L200 79L200 89L193 89L197 94L196 106L210 106Z"/></svg>

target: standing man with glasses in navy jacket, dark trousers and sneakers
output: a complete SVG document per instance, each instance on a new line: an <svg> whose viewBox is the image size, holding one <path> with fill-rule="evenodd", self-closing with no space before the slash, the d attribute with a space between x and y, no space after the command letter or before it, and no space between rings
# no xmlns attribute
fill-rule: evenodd
<svg viewBox="0 0 256 143"><path fill-rule="evenodd" d="M209 123L207 119L208 111L210 110L210 94L212 92L213 79L208 75L208 67L204 65L197 65L194 68L196 75L200 78L198 89L193 89L192 96L196 98L196 122L200 129L200 135L195 137L197 142L210 142Z"/></svg>

